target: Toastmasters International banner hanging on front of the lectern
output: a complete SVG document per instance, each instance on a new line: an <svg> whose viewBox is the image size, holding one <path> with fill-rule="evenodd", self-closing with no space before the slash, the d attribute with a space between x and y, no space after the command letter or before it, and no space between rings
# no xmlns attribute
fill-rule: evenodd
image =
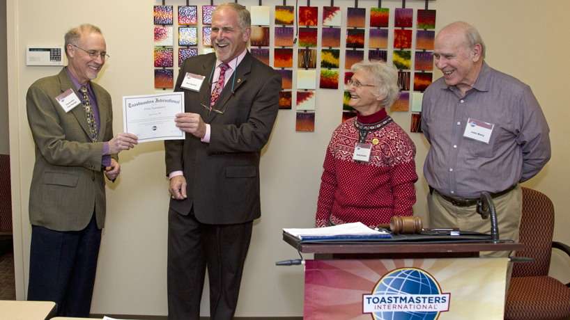
<svg viewBox="0 0 570 320"><path fill-rule="evenodd" d="M508 261L307 260L303 319L502 320Z"/></svg>

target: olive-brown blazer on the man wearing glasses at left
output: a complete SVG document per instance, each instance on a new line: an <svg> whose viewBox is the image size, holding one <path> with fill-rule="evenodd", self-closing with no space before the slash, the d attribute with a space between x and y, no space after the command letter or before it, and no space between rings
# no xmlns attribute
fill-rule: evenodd
<svg viewBox="0 0 570 320"><path fill-rule="evenodd" d="M113 138L111 95L91 82L99 109L98 142L91 142L82 104L66 113L56 97L75 85L65 67L59 74L39 79L28 89L26 110L36 164L30 186L32 225L56 231L83 230L91 221L105 226L105 175L101 172L103 141Z"/></svg>

